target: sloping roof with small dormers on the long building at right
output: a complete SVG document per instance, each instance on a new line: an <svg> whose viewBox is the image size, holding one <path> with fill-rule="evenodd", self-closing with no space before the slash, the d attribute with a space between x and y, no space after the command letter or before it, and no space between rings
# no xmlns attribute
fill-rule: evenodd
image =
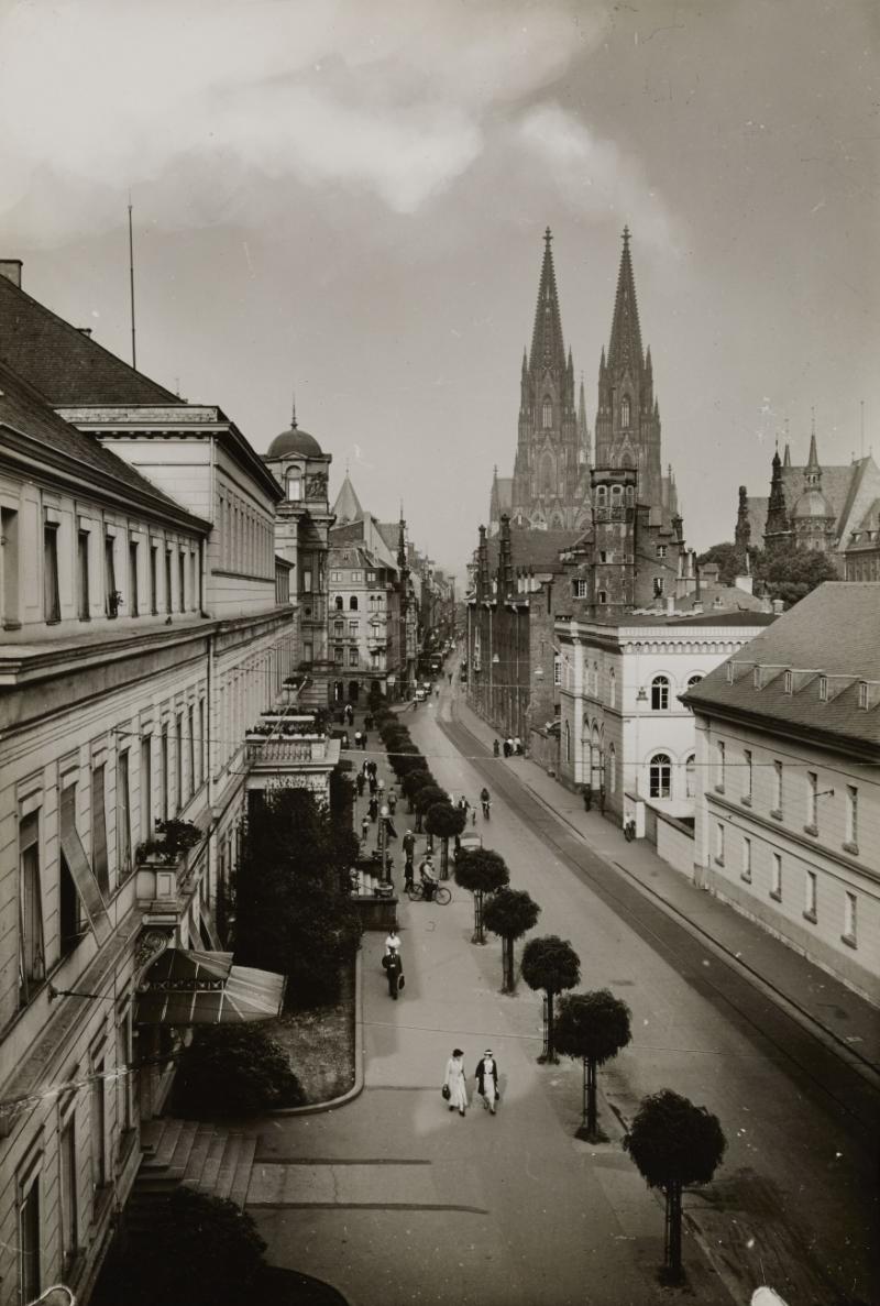
<svg viewBox="0 0 880 1306"><path fill-rule="evenodd" d="M729 665L734 680L729 682ZM765 667L756 687L753 666ZM785 692L785 671L799 671ZM820 675L828 700L819 697ZM688 707L762 721L769 731L794 727L837 746L859 743L880 757L880 692L859 708L859 682L880 690L880 582L826 581L746 648L688 690Z"/></svg>

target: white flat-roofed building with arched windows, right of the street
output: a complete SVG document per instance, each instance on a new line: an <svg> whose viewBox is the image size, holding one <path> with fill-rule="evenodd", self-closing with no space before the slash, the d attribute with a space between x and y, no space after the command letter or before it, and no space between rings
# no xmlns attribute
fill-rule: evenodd
<svg viewBox="0 0 880 1306"><path fill-rule="evenodd" d="M653 842L658 815L692 823L696 738L679 695L772 619L730 611L560 618L560 780L589 789Z"/></svg>

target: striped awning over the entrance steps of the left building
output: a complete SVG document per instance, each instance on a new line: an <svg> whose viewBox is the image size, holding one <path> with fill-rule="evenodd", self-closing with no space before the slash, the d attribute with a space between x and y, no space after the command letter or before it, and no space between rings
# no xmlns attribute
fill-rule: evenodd
<svg viewBox="0 0 880 1306"><path fill-rule="evenodd" d="M234 966L231 952L166 948L137 987L138 1025L238 1025L272 1020L287 977Z"/></svg>

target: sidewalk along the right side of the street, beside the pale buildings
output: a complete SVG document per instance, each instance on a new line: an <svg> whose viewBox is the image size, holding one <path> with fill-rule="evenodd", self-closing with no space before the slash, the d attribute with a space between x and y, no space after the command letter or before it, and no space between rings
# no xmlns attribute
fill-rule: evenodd
<svg viewBox="0 0 880 1306"><path fill-rule="evenodd" d="M453 718L491 757L497 731L467 707L461 693L453 699ZM876 1007L726 902L697 888L658 857L650 844L644 840L627 844L611 820L598 812L586 812L580 794L565 789L537 763L509 757L503 765L595 854L704 942L710 940L735 959L753 980L794 1008L802 1021L816 1027L813 1033L829 1041L868 1083L880 1087L880 1012Z"/></svg>

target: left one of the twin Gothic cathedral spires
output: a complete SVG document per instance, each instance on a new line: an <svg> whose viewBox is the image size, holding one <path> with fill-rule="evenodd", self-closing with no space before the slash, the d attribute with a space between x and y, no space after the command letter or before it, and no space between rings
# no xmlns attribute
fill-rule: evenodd
<svg viewBox="0 0 880 1306"><path fill-rule="evenodd" d="M589 521L586 422L574 406L574 364L565 355L550 227L544 232L531 353L522 355L520 430L511 517L543 529Z"/></svg>

